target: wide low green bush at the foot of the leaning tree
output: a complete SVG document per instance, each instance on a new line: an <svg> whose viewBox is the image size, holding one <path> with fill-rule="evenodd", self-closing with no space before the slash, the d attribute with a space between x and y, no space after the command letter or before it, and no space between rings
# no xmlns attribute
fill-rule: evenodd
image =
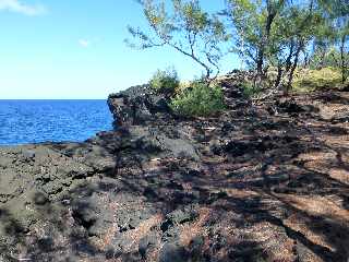
<svg viewBox="0 0 349 262"><path fill-rule="evenodd" d="M171 100L171 108L182 116L205 117L225 109L224 95L218 85L208 86L194 81Z"/></svg>

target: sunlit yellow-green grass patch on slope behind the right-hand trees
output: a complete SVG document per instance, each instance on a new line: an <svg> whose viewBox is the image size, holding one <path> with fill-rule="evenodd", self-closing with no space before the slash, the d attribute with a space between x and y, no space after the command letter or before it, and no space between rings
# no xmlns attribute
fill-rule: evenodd
<svg viewBox="0 0 349 262"><path fill-rule="evenodd" d="M339 69L323 68L321 70L298 70L293 81L294 92L312 92L323 88L341 88L341 73Z"/></svg>

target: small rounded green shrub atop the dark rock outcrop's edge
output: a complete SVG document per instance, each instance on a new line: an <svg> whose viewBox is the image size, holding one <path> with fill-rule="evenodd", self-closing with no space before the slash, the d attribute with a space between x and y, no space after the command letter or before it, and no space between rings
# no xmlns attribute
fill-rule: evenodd
<svg viewBox="0 0 349 262"><path fill-rule="evenodd" d="M157 70L149 85L157 94L172 96L179 86L178 74L174 69Z"/></svg>

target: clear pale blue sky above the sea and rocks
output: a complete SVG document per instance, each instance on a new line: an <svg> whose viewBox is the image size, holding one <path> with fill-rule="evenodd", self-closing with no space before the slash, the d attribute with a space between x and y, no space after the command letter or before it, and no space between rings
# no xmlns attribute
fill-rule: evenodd
<svg viewBox="0 0 349 262"><path fill-rule="evenodd" d="M0 99L106 98L169 66L182 79L201 74L171 49L130 49L127 25L147 28L134 0L0 0ZM237 64L232 56L222 68Z"/></svg>

